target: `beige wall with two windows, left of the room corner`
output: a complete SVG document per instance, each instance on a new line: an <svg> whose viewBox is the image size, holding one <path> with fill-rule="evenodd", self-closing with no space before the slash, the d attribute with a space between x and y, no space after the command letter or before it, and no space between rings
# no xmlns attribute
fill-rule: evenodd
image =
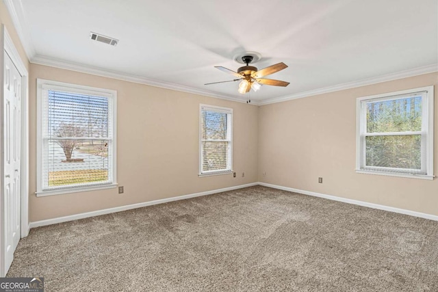
<svg viewBox="0 0 438 292"><path fill-rule="evenodd" d="M117 176L125 194L105 189L35 196L37 78L117 90ZM36 64L29 92L30 222L257 182L257 106ZM236 178L198 177L200 103L233 109Z"/></svg>

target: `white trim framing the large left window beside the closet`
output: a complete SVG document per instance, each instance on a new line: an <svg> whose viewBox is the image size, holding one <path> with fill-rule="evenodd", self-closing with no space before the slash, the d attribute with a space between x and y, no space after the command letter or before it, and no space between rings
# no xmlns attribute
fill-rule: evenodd
<svg viewBox="0 0 438 292"><path fill-rule="evenodd" d="M78 85L73 83L51 81L46 79L36 79L36 101L37 101L37 122L36 122L36 196L53 196L60 194L70 194L82 191L94 191L99 189L110 189L118 186L117 183L117 91L104 88L94 88L86 85ZM112 180L111 183L103 183L101 185L80 185L77 187L59 187L56 189L42 189L43 186L43 159L44 140L42 133L44 131L42 124L44 110L44 90L68 90L79 94L94 94L112 98Z"/></svg>

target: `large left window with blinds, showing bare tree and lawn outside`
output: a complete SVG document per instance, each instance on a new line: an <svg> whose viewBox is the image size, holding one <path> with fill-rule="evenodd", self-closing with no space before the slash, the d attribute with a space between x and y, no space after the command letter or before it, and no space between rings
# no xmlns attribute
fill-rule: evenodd
<svg viewBox="0 0 438 292"><path fill-rule="evenodd" d="M116 187L116 91L37 83L37 196Z"/></svg>

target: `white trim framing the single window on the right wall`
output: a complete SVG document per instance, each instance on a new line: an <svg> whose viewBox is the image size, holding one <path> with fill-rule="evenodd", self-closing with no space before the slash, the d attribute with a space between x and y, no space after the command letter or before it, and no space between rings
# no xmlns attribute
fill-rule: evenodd
<svg viewBox="0 0 438 292"><path fill-rule="evenodd" d="M426 174L409 174L404 172L389 172L387 171L389 168L385 168L386 170L379 170L378 167L374 168L374 170L363 169L363 165L365 165L365 142L364 142L364 133L366 131L366 101L370 100L391 100L391 97L396 98L396 96L407 95L407 94L415 94L417 92L426 92L426 97L424 98L422 106L422 131L420 133L426 133L426 145L424 149L426 151L426 161L424 168L426 170ZM413 88L410 90L401 90L398 92L387 92L384 94L376 94L372 96L363 96L359 97L356 100L356 172L359 174L376 174L383 176L399 176L404 178L421 178L427 180L433 180L435 177L433 175L433 99L434 99L434 86L426 86L422 88ZM387 135L394 135L396 133L385 133ZM418 132L412 132L412 134L417 135ZM378 135L378 134L377 134ZM407 135L407 132L398 133L398 135ZM422 165L423 167L423 165Z"/></svg>

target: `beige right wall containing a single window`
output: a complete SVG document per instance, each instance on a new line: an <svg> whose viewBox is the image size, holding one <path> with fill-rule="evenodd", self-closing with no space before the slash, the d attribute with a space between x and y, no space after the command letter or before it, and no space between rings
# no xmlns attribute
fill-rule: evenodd
<svg viewBox="0 0 438 292"><path fill-rule="evenodd" d="M438 73L431 73L260 107L259 181L438 215L437 178L426 181L355 172L356 98L426 85L435 85L436 100Z"/></svg>

